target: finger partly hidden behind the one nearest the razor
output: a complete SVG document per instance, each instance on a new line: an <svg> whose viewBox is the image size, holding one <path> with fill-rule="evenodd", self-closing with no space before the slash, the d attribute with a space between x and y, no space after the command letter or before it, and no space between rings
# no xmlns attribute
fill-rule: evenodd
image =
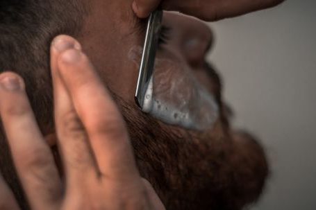
<svg viewBox="0 0 316 210"><path fill-rule="evenodd" d="M76 110L74 110L72 99L58 74L58 56L67 49L80 50L81 45L67 35L60 35L53 40L51 46L51 75L53 77L58 145L65 165L67 184L78 186L89 175L97 177L97 170L85 129L76 114Z"/></svg>

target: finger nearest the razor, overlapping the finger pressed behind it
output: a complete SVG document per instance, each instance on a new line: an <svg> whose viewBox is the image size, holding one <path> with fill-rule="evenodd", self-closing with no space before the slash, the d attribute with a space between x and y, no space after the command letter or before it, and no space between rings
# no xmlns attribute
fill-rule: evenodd
<svg viewBox="0 0 316 210"><path fill-rule="evenodd" d="M122 116L87 56L77 50L65 51L58 60L58 67L88 132L103 177L138 176Z"/></svg>

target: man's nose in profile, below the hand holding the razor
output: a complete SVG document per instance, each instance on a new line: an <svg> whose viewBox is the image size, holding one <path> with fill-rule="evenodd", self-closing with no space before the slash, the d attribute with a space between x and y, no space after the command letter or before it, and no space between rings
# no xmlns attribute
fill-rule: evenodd
<svg viewBox="0 0 316 210"><path fill-rule="evenodd" d="M202 21L165 12L163 23L172 28L172 47L178 49L191 67L202 67L213 45L213 33Z"/></svg>

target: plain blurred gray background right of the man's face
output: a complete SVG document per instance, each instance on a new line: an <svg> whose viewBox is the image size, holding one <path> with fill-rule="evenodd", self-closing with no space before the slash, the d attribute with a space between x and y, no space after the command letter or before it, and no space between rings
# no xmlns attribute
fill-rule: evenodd
<svg viewBox="0 0 316 210"><path fill-rule="evenodd" d="M210 60L224 78L234 125L263 140L272 177L252 209L316 209L316 2L210 24Z"/></svg>

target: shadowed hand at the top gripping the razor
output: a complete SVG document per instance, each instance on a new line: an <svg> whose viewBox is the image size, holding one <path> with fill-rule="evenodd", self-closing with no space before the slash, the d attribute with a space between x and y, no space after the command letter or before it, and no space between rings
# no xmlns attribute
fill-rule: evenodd
<svg viewBox="0 0 316 210"><path fill-rule="evenodd" d="M244 15L262 10L284 0L134 0L133 10L140 18L148 17L160 5L163 10L183 12L205 21Z"/></svg>

